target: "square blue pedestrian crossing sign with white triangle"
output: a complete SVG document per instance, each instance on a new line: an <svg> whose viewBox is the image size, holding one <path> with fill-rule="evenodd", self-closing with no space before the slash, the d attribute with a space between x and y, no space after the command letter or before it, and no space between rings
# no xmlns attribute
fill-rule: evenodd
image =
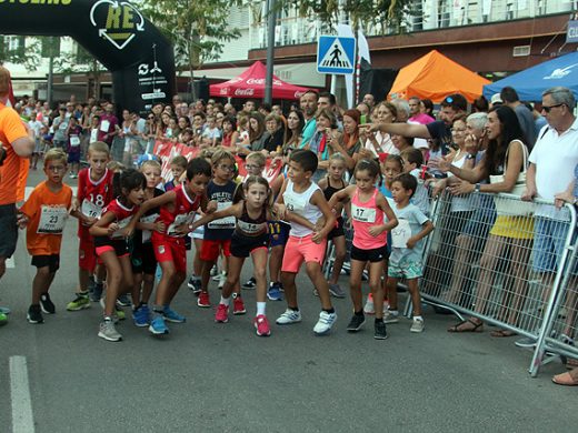
<svg viewBox="0 0 578 433"><path fill-rule="evenodd" d="M355 57L356 38L321 36L317 43L317 72L353 73Z"/></svg>

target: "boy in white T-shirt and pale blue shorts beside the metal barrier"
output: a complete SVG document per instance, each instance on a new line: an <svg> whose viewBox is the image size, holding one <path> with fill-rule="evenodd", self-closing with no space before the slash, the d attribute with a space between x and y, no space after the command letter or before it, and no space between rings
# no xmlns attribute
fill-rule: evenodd
<svg viewBox="0 0 578 433"><path fill-rule="evenodd" d="M399 224L391 231L391 255L387 279L389 311L383 319L386 323L399 321L397 283L399 279L405 278L413 305L411 332L423 331L418 279L422 274L423 240L434 230L434 224L429 218L417 205L409 202L417 185L418 181L409 173L398 175L391 184L393 200L390 201L390 204Z"/></svg>

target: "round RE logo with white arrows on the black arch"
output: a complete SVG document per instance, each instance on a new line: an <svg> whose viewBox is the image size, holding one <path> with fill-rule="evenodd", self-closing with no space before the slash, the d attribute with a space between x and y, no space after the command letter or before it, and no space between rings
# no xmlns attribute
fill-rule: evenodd
<svg viewBox="0 0 578 433"><path fill-rule="evenodd" d="M106 10L106 21L97 20ZM144 18L137 8L126 1L99 0L90 9L90 22L98 29L98 34L117 49L122 50L137 36L144 31Z"/></svg>

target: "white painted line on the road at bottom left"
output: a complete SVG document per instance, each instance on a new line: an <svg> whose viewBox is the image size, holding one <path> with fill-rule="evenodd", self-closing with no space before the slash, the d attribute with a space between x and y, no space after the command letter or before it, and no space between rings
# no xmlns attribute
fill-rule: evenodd
<svg viewBox="0 0 578 433"><path fill-rule="evenodd" d="M12 432L33 433L34 419L26 356L10 356L10 396L12 399Z"/></svg>

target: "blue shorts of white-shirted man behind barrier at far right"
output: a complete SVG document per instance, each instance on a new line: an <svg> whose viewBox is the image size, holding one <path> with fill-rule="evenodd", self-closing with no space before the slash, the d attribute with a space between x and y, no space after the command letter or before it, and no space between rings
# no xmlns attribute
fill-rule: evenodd
<svg viewBox="0 0 578 433"><path fill-rule="evenodd" d="M536 216L534 223L534 271L556 272L558 270L568 230L570 230L568 221Z"/></svg>

